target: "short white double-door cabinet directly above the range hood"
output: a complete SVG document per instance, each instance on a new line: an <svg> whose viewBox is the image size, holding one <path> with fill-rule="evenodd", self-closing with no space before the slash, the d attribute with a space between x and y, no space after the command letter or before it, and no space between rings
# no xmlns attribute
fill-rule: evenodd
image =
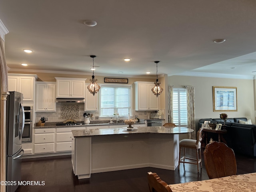
<svg viewBox="0 0 256 192"><path fill-rule="evenodd" d="M56 98L85 98L85 80L81 78L56 78Z"/></svg>

